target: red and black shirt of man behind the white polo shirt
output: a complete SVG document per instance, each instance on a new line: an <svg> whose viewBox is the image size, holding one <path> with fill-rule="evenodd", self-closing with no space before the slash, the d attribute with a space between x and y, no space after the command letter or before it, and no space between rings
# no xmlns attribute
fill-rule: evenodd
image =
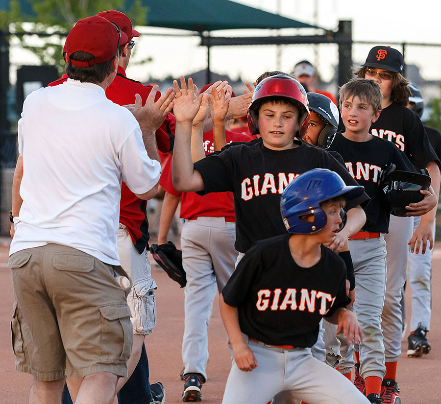
<svg viewBox="0 0 441 404"><path fill-rule="evenodd" d="M50 83L48 87L62 84L66 80L67 76L63 75L62 78ZM106 89L106 96L118 105L127 105L134 104L135 94L139 94L144 105L151 89L152 86L145 86L139 81L127 78L124 69L118 66L115 79ZM160 94L158 92L155 100L159 97ZM175 125L176 120L174 116L169 114L161 127L156 131L156 143L159 150L168 152L173 149ZM147 201L136 197L125 183L122 183L121 186L120 223L127 227L133 244L141 254L146 248L149 239Z"/></svg>

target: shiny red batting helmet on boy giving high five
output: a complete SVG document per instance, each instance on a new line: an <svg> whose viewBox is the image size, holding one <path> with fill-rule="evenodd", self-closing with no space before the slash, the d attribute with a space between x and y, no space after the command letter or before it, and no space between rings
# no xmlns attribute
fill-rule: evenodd
<svg viewBox="0 0 441 404"><path fill-rule="evenodd" d="M303 136L308 130L310 113L308 109L308 97L303 86L293 77L285 74L276 74L262 80L254 90L249 104L246 118L248 128L252 135L259 133L258 114L259 107L267 97L288 98L298 107L299 133Z"/></svg>

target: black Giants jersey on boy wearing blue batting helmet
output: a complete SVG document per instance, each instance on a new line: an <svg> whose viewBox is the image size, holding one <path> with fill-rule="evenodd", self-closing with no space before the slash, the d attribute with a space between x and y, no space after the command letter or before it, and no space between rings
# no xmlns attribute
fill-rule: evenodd
<svg viewBox="0 0 441 404"><path fill-rule="evenodd" d="M319 321L349 303L343 260L321 245L320 261L298 266L290 235L255 243L222 290L227 305L237 307L241 331L270 345L313 346Z"/></svg>

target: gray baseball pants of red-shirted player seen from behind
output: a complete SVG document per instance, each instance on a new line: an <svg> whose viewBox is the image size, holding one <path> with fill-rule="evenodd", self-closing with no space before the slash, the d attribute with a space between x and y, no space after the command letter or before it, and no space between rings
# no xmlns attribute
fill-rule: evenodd
<svg viewBox="0 0 441 404"><path fill-rule="evenodd" d="M237 251L235 224L223 217L186 220L181 232L185 286L185 328L182 341L184 374L200 373L207 379L207 328L216 286L221 292L234 270Z"/></svg>

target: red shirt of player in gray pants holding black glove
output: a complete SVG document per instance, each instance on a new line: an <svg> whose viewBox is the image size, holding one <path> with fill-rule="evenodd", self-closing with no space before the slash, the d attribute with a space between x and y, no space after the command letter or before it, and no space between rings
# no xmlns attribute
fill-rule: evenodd
<svg viewBox="0 0 441 404"><path fill-rule="evenodd" d="M252 138L243 133L225 131L225 140L231 142L249 142ZM205 154L214 151L213 131L205 132L203 135ZM234 199L232 192L213 192L204 196L195 192L178 192L172 184L172 159L169 159L159 180L159 184L174 196L181 195L180 217L193 220L200 216L225 217L225 221L234 222Z"/></svg>

